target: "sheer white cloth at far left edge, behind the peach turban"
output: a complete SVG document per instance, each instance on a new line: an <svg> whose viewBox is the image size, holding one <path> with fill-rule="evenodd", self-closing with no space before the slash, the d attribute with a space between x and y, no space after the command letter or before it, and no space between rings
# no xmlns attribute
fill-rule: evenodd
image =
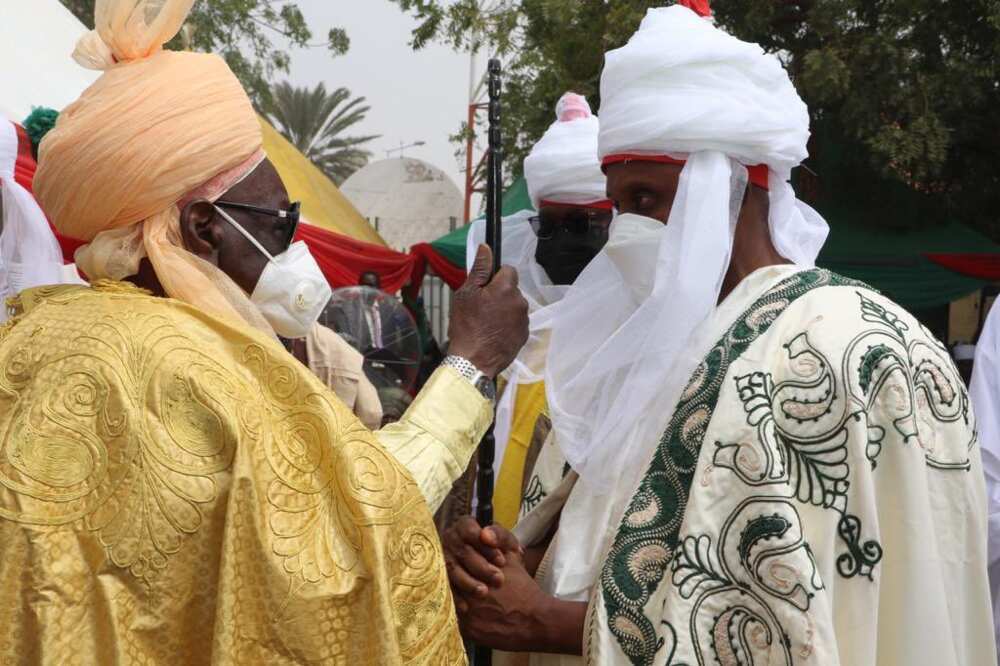
<svg viewBox="0 0 1000 666"><path fill-rule="evenodd" d="M0 322L6 299L63 282L62 250L35 198L14 180L16 161L17 130L0 121Z"/></svg>

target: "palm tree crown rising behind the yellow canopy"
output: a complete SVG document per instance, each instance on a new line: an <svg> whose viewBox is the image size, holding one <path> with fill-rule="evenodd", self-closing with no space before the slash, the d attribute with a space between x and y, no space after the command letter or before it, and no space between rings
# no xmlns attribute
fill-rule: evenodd
<svg viewBox="0 0 1000 666"><path fill-rule="evenodd" d="M371 109L364 97L351 99L347 88L327 93L322 83L310 90L282 82L272 90L264 109L274 126L303 155L340 185L368 163L371 153L361 146L379 135L344 136Z"/></svg>

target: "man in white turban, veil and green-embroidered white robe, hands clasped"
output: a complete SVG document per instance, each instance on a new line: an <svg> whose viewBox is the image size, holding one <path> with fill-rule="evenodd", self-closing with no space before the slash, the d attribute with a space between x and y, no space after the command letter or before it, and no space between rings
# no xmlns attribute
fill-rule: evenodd
<svg viewBox="0 0 1000 666"><path fill-rule="evenodd" d="M683 4L607 54L620 215L545 373L573 472L515 535L456 526L463 629L533 664L993 664L958 372L898 305L813 267L825 224L787 182L807 109Z"/></svg>

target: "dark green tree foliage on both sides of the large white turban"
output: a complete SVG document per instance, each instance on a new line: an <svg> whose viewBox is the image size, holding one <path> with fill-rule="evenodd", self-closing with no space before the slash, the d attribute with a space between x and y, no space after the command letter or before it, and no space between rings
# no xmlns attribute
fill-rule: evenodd
<svg viewBox="0 0 1000 666"><path fill-rule="evenodd" d="M504 56L515 170L562 92L599 104L604 51L623 45L647 8L664 4L393 1L420 20L415 48L432 40L470 48L481 39ZM821 198L881 204L871 207L880 211L874 221L947 215L1000 237L1000 0L715 0L713 8L721 26L788 68L812 114L809 165Z"/></svg>

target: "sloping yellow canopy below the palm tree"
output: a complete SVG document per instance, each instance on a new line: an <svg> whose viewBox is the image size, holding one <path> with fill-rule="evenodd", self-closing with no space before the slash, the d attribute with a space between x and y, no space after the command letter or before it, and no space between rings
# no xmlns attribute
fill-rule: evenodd
<svg viewBox="0 0 1000 666"><path fill-rule="evenodd" d="M302 215L310 224L356 240L386 246L385 240L326 174L265 119L260 119L260 125L268 158L281 175L289 196L302 202Z"/></svg>

